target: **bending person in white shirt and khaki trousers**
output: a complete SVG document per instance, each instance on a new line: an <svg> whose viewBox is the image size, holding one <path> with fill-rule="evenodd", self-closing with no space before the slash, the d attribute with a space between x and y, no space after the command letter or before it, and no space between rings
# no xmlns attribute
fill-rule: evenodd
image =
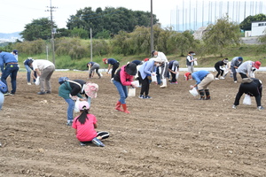
<svg viewBox="0 0 266 177"><path fill-rule="evenodd" d="M33 68L33 71L40 77L41 91L38 95L51 94L51 75L55 71L55 65L46 59L35 59L28 62L28 66ZM35 76L32 74L34 79ZM46 86L46 89L45 89Z"/></svg>

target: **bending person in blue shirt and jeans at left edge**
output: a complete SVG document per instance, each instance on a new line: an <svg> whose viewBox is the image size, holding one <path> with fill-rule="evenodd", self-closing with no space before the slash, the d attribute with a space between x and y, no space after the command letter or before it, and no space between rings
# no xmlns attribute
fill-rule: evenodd
<svg viewBox="0 0 266 177"><path fill-rule="evenodd" d="M5 65L5 67L4 67ZM1 51L0 52L0 68L2 72L1 81L7 87L7 92L4 93L5 96L13 96L17 90L17 74L20 69L18 65L18 60L10 52ZM12 91L9 93L8 85L6 83L7 77L11 75Z"/></svg>

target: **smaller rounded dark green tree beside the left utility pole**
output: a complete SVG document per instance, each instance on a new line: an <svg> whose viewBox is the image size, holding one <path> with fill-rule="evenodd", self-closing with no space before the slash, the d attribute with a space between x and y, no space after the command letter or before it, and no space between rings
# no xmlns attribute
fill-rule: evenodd
<svg viewBox="0 0 266 177"><path fill-rule="evenodd" d="M57 27L53 24L53 27ZM33 19L27 24L25 30L20 33L26 41L34 41L36 39L47 40L51 38L51 20L47 18Z"/></svg>

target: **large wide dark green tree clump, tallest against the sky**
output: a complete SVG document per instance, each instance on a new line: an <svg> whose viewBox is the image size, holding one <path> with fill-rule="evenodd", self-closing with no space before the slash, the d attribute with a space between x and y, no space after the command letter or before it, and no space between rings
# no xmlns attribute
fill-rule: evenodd
<svg viewBox="0 0 266 177"><path fill-rule="evenodd" d="M92 29L93 36L105 32L110 32L113 35L117 35L119 31L133 32L136 26L150 27L150 12L133 12L126 8L113 8L106 7L105 11L98 8L96 12L92 11L91 7L85 7L82 10L77 11L75 15L70 16L66 23L68 29L74 29L74 27L82 28L87 31ZM153 15L153 23L156 24L158 19ZM108 37L110 36L108 35Z"/></svg>

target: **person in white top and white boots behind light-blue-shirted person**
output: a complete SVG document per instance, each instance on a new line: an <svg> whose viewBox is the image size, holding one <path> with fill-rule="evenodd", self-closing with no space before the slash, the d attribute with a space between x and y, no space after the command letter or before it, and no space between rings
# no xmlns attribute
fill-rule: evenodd
<svg viewBox="0 0 266 177"><path fill-rule="evenodd" d="M156 70L156 77L157 77L157 82L160 84L160 81L162 82L162 85L160 86L160 89L167 88L167 78L169 78L168 75L168 58L166 55L157 50L152 50L152 57L153 58L160 58L162 60L162 63L160 66L157 67Z"/></svg>

